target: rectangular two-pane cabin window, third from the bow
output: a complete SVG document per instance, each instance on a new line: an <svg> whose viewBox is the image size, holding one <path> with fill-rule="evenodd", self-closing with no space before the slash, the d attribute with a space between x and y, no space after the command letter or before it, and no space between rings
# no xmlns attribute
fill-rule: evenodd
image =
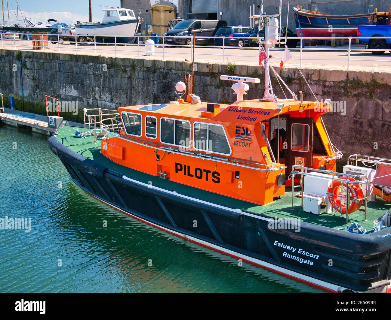
<svg viewBox="0 0 391 320"><path fill-rule="evenodd" d="M161 118L160 141L187 148L190 144L190 122L187 120Z"/></svg>

